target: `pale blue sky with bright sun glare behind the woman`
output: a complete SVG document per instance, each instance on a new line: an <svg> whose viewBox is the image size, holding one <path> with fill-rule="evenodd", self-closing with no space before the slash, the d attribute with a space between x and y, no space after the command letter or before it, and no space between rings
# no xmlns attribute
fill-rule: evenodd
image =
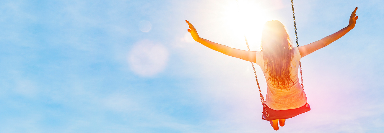
<svg viewBox="0 0 384 133"><path fill-rule="evenodd" d="M194 42L260 50L268 20L295 36L290 0L2 0L1 133L384 131L384 1L295 0L299 44L348 25L301 59L311 111L274 131L250 62ZM240 24L239 24L240 23ZM265 95L266 83L256 67Z"/></svg>

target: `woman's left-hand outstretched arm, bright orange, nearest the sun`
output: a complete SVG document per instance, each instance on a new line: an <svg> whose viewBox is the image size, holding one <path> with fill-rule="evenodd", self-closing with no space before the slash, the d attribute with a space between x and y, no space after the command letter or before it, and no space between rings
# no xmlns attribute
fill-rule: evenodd
<svg viewBox="0 0 384 133"><path fill-rule="evenodd" d="M189 21L185 20L185 22L188 23L188 25L189 25L188 32L191 33L192 38L195 41L203 44L204 46L207 46L210 49L213 49L213 50L218 51L220 53L226 54L228 56L237 57L237 58L243 59L245 61L250 61L250 62L256 63L256 52L255 51L244 51L244 50L240 50L240 49L230 48L228 46L214 43L214 42L209 41L209 40L204 39L204 38L200 38L199 34L197 34L195 27L191 23L189 23Z"/></svg>

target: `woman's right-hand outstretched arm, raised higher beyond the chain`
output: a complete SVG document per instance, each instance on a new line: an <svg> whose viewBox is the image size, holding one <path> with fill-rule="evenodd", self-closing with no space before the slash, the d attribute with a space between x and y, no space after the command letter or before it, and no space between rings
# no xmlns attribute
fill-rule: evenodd
<svg viewBox="0 0 384 133"><path fill-rule="evenodd" d="M349 25L340 31L333 33L319 41L315 41L313 43L307 44L305 46L300 46L299 47L299 52L301 57L304 57L318 49L321 49L332 42L336 41L337 39L341 38L344 36L346 33L348 33L350 30L352 30L355 27L356 20L359 18L359 16L356 16L356 10L358 8L356 7L354 11L352 11L351 17L349 17Z"/></svg>

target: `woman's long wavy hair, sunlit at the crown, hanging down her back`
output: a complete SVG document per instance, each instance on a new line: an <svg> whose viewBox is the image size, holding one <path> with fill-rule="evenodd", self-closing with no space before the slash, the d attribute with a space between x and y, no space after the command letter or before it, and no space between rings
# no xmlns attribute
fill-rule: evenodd
<svg viewBox="0 0 384 133"><path fill-rule="evenodd" d="M262 33L262 51L268 79L277 87L289 89L293 47L285 26L280 21L268 21Z"/></svg>

